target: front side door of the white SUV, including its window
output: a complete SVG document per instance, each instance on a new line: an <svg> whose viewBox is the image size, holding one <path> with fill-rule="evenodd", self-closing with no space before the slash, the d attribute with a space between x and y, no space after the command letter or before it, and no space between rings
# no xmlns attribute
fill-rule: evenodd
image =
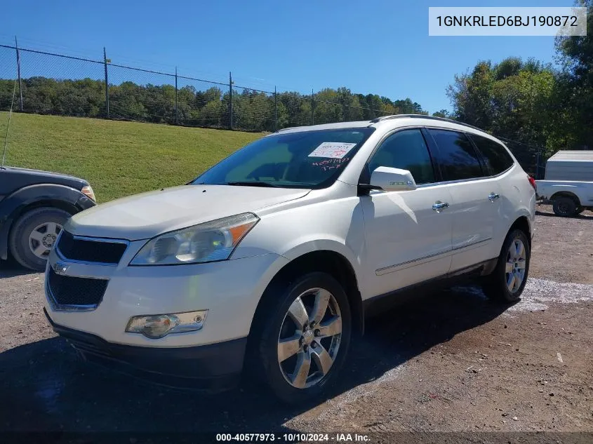
<svg viewBox="0 0 593 444"><path fill-rule="evenodd" d="M436 183L421 130L389 135L369 159L366 177L379 166L409 170L418 188L361 196L371 297L442 276L451 266L452 213L433 206L453 202L448 187Z"/></svg>

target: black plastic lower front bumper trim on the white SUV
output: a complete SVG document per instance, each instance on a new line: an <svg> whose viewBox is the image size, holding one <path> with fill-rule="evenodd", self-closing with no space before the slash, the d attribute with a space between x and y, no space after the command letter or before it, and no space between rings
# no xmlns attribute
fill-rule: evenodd
<svg viewBox="0 0 593 444"><path fill-rule="evenodd" d="M58 325L46 309L53 331L67 339L85 361L156 384L210 392L239 382L247 338L198 347L138 347L112 344L91 333Z"/></svg>

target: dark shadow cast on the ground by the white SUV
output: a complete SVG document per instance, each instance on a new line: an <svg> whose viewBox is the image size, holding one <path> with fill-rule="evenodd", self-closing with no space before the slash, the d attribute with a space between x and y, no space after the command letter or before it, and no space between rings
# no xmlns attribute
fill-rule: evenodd
<svg viewBox="0 0 593 444"><path fill-rule="evenodd" d="M368 319L333 396L371 382L434 345L499 316L475 288L417 295ZM225 433L290 431L314 405L288 407L260 386L218 395L178 391L79 363L58 337L0 354L0 431ZM134 442L134 441L132 441Z"/></svg>

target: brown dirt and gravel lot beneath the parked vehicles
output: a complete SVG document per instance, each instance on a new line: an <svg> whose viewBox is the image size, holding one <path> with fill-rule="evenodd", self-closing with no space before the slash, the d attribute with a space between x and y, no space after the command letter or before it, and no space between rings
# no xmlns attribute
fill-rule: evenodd
<svg viewBox="0 0 593 444"><path fill-rule="evenodd" d="M466 433L449 442L593 432L593 213L560 219L539 207L535 233L519 303L505 310L453 288L368 320L333 397L300 409L249 384L204 396L78 363L41 313L43 276L0 269L0 431L127 431L132 444L140 431L344 432L371 442L396 440L390 431ZM559 436L552 442L593 442Z"/></svg>

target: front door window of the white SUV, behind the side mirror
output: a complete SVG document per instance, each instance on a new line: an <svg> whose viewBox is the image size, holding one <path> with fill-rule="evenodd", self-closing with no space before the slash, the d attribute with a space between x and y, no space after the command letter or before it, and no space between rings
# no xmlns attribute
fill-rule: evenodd
<svg viewBox="0 0 593 444"><path fill-rule="evenodd" d="M434 182L434 170L420 130L398 131L387 137L368 162L368 177L380 166L409 170L417 184Z"/></svg>

